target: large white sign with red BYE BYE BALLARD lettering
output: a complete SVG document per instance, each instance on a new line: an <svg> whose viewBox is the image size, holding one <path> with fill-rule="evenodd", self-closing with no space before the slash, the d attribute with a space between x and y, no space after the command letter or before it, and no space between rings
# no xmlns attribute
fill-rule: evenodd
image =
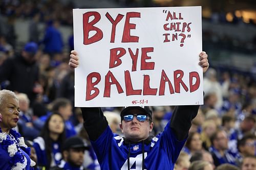
<svg viewBox="0 0 256 170"><path fill-rule="evenodd" d="M75 106L203 104L201 7L74 9Z"/></svg>

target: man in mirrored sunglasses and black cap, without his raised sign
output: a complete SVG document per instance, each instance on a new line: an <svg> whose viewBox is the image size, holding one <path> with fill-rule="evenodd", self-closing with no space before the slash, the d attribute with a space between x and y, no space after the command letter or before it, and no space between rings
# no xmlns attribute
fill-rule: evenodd
<svg viewBox="0 0 256 170"><path fill-rule="evenodd" d="M205 72L207 54L199 54L199 65ZM71 52L69 66L78 66L78 54ZM173 169L188 136L191 120L199 105L177 106L164 131L152 137L152 111L149 107L126 107L121 111L120 128L124 138L113 134L98 107L82 107L87 130L101 169Z"/></svg>

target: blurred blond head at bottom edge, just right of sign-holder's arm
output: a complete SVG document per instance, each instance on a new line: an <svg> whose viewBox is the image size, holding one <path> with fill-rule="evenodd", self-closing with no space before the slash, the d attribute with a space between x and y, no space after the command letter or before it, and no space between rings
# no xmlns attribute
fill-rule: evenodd
<svg viewBox="0 0 256 170"><path fill-rule="evenodd" d="M188 169L189 165L190 165L190 162L189 162L188 154L181 151L180 155L174 165L174 170Z"/></svg>

